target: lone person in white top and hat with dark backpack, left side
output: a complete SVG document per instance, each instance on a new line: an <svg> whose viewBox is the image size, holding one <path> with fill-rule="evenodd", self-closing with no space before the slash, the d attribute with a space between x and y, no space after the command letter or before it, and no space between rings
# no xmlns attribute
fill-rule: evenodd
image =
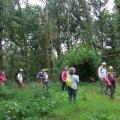
<svg viewBox="0 0 120 120"><path fill-rule="evenodd" d="M23 88L23 69L20 69L15 77L16 82L18 84L18 88Z"/></svg>

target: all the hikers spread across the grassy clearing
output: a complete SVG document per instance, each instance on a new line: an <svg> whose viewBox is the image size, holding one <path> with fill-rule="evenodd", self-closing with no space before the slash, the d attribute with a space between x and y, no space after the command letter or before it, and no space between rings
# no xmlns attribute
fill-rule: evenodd
<svg viewBox="0 0 120 120"><path fill-rule="evenodd" d="M79 82L79 76L75 74L76 70L74 67L69 68L66 66L62 72L62 90L68 91L68 97L70 101L76 100L77 93L77 84ZM106 95L110 95L111 98L114 98L115 88L116 88L116 73L113 71L113 67L109 66L108 70L106 68L106 62L103 62L101 66L98 68L98 76L100 79L100 89L101 94L105 93ZM48 70L43 69L41 72L37 74L36 79L38 80L38 84L48 89ZM4 86L6 82L5 73L0 72L0 85ZM18 88L23 88L23 69L20 69L15 75L16 83L18 84ZM105 86L105 90L104 90ZM110 92L108 93L108 90Z"/></svg>

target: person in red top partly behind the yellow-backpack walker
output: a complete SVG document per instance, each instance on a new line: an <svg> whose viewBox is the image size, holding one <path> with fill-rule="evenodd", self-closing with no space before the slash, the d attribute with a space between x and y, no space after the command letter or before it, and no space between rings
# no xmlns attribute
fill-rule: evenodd
<svg viewBox="0 0 120 120"><path fill-rule="evenodd" d="M62 72L62 90L66 90L66 80L68 78L68 66L64 68Z"/></svg>

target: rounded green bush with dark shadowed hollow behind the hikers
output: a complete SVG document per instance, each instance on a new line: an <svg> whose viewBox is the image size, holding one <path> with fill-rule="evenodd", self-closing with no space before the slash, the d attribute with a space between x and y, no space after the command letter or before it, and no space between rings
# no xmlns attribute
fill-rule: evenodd
<svg viewBox="0 0 120 120"><path fill-rule="evenodd" d="M81 47L79 50L70 50L60 60L58 67L60 72L65 66L76 68L76 73L82 81L94 81L97 78L97 69L100 64L101 57L95 50L87 47Z"/></svg>

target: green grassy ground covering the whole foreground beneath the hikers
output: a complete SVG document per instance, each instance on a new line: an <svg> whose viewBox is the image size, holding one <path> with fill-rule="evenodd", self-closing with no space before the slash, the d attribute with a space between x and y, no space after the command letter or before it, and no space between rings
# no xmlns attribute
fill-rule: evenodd
<svg viewBox="0 0 120 120"><path fill-rule="evenodd" d="M115 99L100 95L99 82L80 83L76 103L68 101L60 83L49 91L36 83L19 90L14 83L0 88L0 120L120 120L120 85Z"/></svg>

